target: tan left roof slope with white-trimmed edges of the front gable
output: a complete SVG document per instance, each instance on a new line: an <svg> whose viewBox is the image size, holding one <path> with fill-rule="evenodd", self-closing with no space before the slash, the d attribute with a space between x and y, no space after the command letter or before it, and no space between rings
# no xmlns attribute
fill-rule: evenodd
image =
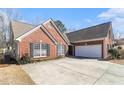
<svg viewBox="0 0 124 93"><path fill-rule="evenodd" d="M30 24L26 24L19 21L11 21L11 28L14 34L14 40L21 41L22 38L26 37L27 35L31 34L38 29L42 29L42 31L55 43L57 44L56 40L49 34L49 32L45 29L43 25L33 26Z"/></svg>

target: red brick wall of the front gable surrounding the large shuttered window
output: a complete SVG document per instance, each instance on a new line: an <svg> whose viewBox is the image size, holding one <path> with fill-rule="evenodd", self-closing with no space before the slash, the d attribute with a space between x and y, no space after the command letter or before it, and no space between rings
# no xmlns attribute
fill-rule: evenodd
<svg viewBox="0 0 124 93"><path fill-rule="evenodd" d="M21 40L21 42L19 43L20 57L25 53L30 54L30 43L36 43L40 41L50 44L50 58L56 57L55 44L40 28Z"/></svg>

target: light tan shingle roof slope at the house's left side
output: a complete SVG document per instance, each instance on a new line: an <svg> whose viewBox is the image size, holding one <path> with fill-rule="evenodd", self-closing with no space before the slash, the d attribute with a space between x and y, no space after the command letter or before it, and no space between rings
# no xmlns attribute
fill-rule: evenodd
<svg viewBox="0 0 124 93"><path fill-rule="evenodd" d="M35 26L19 21L11 21L11 28L13 31L14 39L33 29Z"/></svg>

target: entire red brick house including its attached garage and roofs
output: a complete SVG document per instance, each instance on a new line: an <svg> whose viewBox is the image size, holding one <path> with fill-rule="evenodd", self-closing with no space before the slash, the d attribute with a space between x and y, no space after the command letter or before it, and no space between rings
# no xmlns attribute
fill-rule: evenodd
<svg viewBox="0 0 124 93"><path fill-rule="evenodd" d="M25 54L31 58L71 55L105 59L114 39L111 22L66 34L59 31L52 19L38 26L19 21L12 21L10 25L17 59Z"/></svg>

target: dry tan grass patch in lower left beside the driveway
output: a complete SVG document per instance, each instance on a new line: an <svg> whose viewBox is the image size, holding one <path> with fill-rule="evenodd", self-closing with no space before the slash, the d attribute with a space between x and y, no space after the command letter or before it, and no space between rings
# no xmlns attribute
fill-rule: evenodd
<svg viewBox="0 0 124 93"><path fill-rule="evenodd" d="M1 85L32 85L35 84L20 66L10 65L0 68Z"/></svg>

